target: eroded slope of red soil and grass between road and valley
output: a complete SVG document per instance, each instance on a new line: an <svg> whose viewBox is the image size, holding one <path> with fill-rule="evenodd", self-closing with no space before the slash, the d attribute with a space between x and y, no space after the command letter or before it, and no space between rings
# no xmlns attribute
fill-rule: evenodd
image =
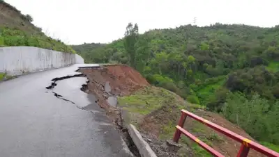
<svg viewBox="0 0 279 157"><path fill-rule="evenodd" d="M82 68L80 72L89 78L83 87L84 92L95 95L96 102L107 110L107 115L119 129L124 127L123 119L135 124L158 156L209 156L186 137L180 140L183 147L177 152L169 150L164 144L165 140L172 139L182 108L252 140L245 131L220 115L189 104L173 92L149 85L139 72L126 65ZM239 150L238 142L191 119L186 120L185 127L225 156L236 156ZM250 151L249 156L262 155Z"/></svg>

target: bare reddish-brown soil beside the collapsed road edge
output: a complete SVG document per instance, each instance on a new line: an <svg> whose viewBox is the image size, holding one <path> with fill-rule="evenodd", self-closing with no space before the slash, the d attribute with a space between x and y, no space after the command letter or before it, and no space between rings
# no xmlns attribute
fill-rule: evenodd
<svg viewBox="0 0 279 157"><path fill-rule="evenodd" d="M102 108L111 108L108 97L122 97L149 85L146 79L127 65L105 65L80 69L89 78L85 92L93 94Z"/></svg>

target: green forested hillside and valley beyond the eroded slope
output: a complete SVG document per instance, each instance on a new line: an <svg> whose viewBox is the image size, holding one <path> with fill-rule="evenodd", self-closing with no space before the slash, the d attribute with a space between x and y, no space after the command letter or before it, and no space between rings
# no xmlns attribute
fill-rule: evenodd
<svg viewBox="0 0 279 157"><path fill-rule="evenodd" d="M189 24L140 34L128 24L123 39L72 47L86 63L134 67L279 151L279 26Z"/></svg>

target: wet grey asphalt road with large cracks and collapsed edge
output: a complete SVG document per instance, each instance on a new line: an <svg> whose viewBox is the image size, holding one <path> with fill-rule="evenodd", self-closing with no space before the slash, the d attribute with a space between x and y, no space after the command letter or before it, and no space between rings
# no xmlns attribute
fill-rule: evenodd
<svg viewBox="0 0 279 157"><path fill-rule="evenodd" d="M78 66L89 65L27 74L0 83L0 156L130 156L94 97L80 90L86 78L68 78L57 81L53 90L45 88L52 78L78 74Z"/></svg>

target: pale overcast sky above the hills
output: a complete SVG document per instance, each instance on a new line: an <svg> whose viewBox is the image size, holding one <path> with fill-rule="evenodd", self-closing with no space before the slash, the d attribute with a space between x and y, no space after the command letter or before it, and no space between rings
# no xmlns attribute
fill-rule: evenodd
<svg viewBox="0 0 279 157"><path fill-rule="evenodd" d="M68 44L112 42L123 37L128 22L140 33L153 28L279 24L279 0L5 0L30 14L33 24Z"/></svg>

